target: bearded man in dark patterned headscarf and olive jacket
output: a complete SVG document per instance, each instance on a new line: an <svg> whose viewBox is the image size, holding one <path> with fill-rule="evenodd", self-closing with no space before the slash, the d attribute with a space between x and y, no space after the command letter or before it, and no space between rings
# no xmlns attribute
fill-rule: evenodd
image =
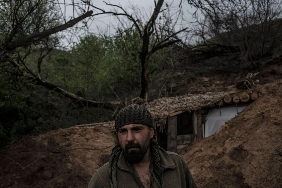
<svg viewBox="0 0 282 188"><path fill-rule="evenodd" d="M110 161L92 176L88 188L197 188L186 161L158 146L153 119L141 105L117 114L119 143Z"/></svg>

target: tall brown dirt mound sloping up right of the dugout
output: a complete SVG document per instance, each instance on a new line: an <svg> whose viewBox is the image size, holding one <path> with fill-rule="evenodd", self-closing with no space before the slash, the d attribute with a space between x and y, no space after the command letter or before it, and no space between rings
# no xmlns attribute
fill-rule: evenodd
<svg viewBox="0 0 282 188"><path fill-rule="evenodd" d="M180 155L199 187L282 187L282 81L214 135Z"/></svg>

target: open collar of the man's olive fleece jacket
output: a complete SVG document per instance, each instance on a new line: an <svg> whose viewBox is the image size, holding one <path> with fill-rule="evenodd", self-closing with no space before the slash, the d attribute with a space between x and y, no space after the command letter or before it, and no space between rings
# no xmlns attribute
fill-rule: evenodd
<svg viewBox="0 0 282 188"><path fill-rule="evenodd" d="M173 168L175 168L175 164L171 160L169 154L164 149L159 147L158 153L159 153L159 156L160 156L161 165L162 165L162 167L164 169L167 169L167 168L172 168L173 169ZM120 157L118 159L118 163L117 163L118 168L121 169L121 170L129 171L129 172L134 172L133 165L129 164L125 160L123 154L124 154L124 152L122 151L121 154L120 154Z"/></svg>

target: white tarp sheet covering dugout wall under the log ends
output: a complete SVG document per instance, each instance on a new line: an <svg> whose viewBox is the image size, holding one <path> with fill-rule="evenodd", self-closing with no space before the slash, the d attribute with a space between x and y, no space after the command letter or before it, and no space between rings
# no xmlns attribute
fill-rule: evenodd
<svg viewBox="0 0 282 188"><path fill-rule="evenodd" d="M211 109L206 117L205 123L205 138L211 136L217 132L222 125L225 124L225 121L229 121L232 118L235 118L238 112L242 112L246 108L243 107L225 107L219 109ZM221 116L220 116L221 114Z"/></svg>

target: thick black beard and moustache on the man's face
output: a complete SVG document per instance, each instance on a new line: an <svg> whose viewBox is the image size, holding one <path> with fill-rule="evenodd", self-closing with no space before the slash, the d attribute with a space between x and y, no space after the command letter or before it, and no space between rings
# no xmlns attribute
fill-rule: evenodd
<svg viewBox="0 0 282 188"><path fill-rule="evenodd" d="M128 151L130 148L137 148ZM142 147L139 143L129 142L124 147L124 158L129 164L140 163L146 152L148 151L149 143Z"/></svg>

